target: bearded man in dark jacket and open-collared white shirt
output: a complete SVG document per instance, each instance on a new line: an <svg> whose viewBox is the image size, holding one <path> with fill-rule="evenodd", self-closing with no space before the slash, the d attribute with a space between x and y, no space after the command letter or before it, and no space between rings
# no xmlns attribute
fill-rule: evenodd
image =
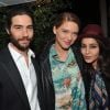
<svg viewBox="0 0 110 110"><path fill-rule="evenodd" d="M26 8L14 8L7 16L8 47L0 51L0 110L42 110L42 84L33 40L33 16Z"/></svg>

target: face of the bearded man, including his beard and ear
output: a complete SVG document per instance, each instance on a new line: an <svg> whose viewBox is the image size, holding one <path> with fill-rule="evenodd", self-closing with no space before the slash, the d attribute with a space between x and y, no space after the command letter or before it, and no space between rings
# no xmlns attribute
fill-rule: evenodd
<svg viewBox="0 0 110 110"><path fill-rule="evenodd" d="M19 51L26 51L33 38L32 19L26 15L15 15L11 20L11 26L7 30L11 43Z"/></svg>

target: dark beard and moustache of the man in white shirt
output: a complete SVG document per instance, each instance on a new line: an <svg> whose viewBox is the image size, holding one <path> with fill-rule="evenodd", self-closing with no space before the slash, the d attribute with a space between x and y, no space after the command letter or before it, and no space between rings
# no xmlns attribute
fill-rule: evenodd
<svg viewBox="0 0 110 110"><path fill-rule="evenodd" d="M26 38L28 41L30 41L30 43L31 43L31 41L32 41L31 38L28 38L28 37L23 37L23 38L15 40L15 38L13 38L13 37L11 36L11 43L12 43L18 50L24 52L24 51L29 50L29 47L30 47L30 44L26 45L26 46L23 46L23 45L20 45L20 44L19 44L19 41L22 41L22 40L24 40L24 38Z"/></svg>

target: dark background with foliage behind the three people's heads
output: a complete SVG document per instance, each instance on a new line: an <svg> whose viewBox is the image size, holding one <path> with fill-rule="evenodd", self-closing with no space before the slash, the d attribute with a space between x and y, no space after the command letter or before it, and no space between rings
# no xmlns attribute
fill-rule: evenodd
<svg viewBox="0 0 110 110"><path fill-rule="evenodd" d="M107 4L107 20L108 20L108 37L110 36L110 0L106 0ZM18 4L19 6L19 4ZM53 18L61 10L72 10L75 12L80 21L81 29L88 23L97 23L101 25L100 0L52 0L50 3L24 3L20 6L28 6L35 16L35 40L32 47L38 52L41 48L53 37ZM16 6L0 8L0 48L4 47L8 43L9 36L7 35L3 24L6 12ZM43 46L42 46L43 45Z"/></svg>

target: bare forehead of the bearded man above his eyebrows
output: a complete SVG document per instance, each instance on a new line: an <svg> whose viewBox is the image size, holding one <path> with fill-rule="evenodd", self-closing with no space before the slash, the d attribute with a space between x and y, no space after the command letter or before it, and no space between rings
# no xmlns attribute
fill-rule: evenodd
<svg viewBox="0 0 110 110"><path fill-rule="evenodd" d="M22 14L13 16L11 22L12 24L32 24L32 19L26 14Z"/></svg>

